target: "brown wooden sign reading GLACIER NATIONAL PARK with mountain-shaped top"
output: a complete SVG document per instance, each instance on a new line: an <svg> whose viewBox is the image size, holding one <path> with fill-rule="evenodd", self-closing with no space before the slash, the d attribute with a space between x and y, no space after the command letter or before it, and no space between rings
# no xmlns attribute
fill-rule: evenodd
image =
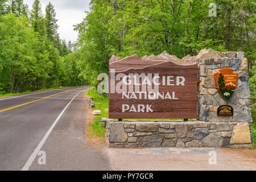
<svg viewBox="0 0 256 182"><path fill-rule="evenodd" d="M113 56L109 66L109 118L196 118L197 63L159 56Z"/></svg>

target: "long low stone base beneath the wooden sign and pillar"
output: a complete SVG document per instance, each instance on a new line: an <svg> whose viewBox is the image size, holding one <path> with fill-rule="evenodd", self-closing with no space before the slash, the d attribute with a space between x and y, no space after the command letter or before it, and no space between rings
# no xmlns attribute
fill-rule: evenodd
<svg viewBox="0 0 256 182"><path fill-rule="evenodd" d="M201 121L106 122L108 147L217 147L250 148L250 123Z"/></svg>

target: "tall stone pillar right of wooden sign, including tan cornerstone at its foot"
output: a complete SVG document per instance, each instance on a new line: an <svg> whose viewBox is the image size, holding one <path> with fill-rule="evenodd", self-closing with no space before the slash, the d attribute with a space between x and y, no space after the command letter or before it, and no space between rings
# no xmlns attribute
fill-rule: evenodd
<svg viewBox="0 0 256 182"><path fill-rule="evenodd" d="M204 122L232 123L232 144L251 144L250 84L247 59L243 52L215 52L203 49L197 58L199 85L197 119ZM239 74L237 88L229 101L224 100L218 92L214 73L222 68L232 68ZM221 105L230 105L234 109L233 117L218 117L217 109ZM238 137L239 136L239 137Z"/></svg>

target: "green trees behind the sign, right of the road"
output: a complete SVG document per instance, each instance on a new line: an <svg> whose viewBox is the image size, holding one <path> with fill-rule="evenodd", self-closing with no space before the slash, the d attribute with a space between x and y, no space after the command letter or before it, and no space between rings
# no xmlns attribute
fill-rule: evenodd
<svg viewBox="0 0 256 182"><path fill-rule="evenodd" d="M209 17L210 3L217 5L216 17ZM167 51L183 58L203 48L244 51L251 69L256 58L254 10L252 0L91 1L86 18L75 27L80 76L97 85L98 73L108 73L113 54L142 57Z"/></svg>

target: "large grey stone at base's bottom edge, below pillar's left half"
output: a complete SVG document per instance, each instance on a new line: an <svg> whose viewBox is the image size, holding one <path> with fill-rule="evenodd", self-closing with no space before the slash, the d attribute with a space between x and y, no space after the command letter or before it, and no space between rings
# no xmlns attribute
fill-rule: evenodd
<svg viewBox="0 0 256 182"><path fill-rule="evenodd" d="M222 137L221 133L210 133L207 137L203 139L204 147L222 147Z"/></svg>

